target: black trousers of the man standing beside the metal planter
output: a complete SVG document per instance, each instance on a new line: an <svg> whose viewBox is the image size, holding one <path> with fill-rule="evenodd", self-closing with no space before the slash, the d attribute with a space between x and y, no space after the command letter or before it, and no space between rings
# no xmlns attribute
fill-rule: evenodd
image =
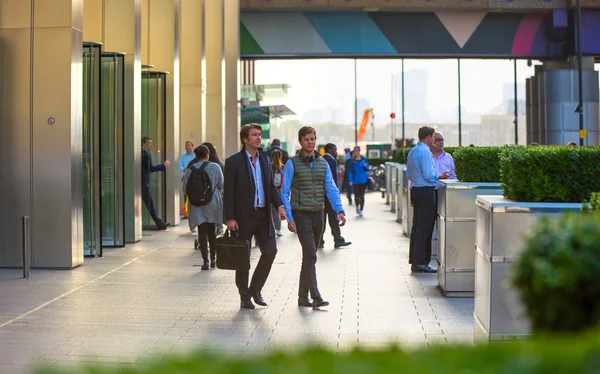
<svg viewBox="0 0 600 374"><path fill-rule="evenodd" d="M435 187L411 188L410 200L414 213L408 263L428 265L431 262L431 237L437 214Z"/></svg>

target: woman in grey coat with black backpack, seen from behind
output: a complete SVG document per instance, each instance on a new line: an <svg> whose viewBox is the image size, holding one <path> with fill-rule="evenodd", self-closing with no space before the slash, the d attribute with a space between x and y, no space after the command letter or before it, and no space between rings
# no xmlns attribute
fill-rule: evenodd
<svg viewBox="0 0 600 374"><path fill-rule="evenodd" d="M197 162L185 171L182 189L190 202L190 229L198 227L198 246L204 260L202 270L208 270L208 244L210 267L214 268L217 252L215 225L223 222L223 173L218 164L208 161L210 151L205 145L196 147L194 154Z"/></svg>

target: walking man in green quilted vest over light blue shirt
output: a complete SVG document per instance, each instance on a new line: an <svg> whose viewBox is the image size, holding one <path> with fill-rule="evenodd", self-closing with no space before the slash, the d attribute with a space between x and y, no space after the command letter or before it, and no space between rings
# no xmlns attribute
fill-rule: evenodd
<svg viewBox="0 0 600 374"><path fill-rule="evenodd" d="M298 306L319 308L329 305L317 287L317 247L323 235L325 198L337 213L340 226L346 217L340 193L327 161L315 153L317 131L305 126L298 131L302 150L283 170L281 200L285 206L288 229L298 234L302 245L302 269L298 288ZM309 300L310 293L312 302Z"/></svg>

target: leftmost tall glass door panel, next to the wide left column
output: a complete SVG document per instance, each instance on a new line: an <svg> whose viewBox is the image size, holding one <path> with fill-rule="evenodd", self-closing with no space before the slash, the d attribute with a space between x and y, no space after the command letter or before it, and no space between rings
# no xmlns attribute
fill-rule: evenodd
<svg viewBox="0 0 600 374"><path fill-rule="evenodd" d="M102 256L100 241L100 48L83 43L83 253Z"/></svg>

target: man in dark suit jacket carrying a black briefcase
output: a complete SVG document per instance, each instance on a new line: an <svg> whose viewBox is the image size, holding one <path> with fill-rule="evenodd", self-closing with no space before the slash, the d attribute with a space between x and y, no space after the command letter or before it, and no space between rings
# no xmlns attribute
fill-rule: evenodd
<svg viewBox="0 0 600 374"><path fill-rule="evenodd" d="M278 209L279 219L287 218L279 193L273 184L267 154L260 149L261 135L262 127L258 124L251 123L242 127L240 140L244 147L225 162L224 205L227 228L239 231L240 238L248 243L252 236L256 237L261 252L250 287L249 271L235 273L241 307L246 309L254 309L251 299L258 305L267 305L261 290L277 254L270 206Z"/></svg>

